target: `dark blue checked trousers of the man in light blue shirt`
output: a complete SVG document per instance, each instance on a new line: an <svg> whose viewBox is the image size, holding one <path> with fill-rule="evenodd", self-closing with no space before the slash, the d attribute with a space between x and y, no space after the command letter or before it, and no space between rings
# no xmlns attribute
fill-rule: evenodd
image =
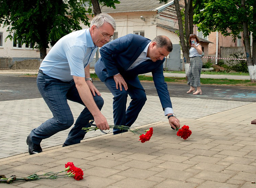
<svg viewBox="0 0 256 188"><path fill-rule="evenodd" d="M46 120L30 133L31 140L35 144L40 144L43 139L49 138L73 125L74 118L67 103L67 99L80 103L83 106L85 105L78 94L74 80L64 82L49 77L46 74L38 73L37 87L53 115L53 118ZM96 105L101 110L104 104L102 97L96 95L93 98ZM89 123L90 120L93 120L93 116L85 106L64 143L67 145L80 143L86 133L82 128L90 127L93 123Z"/></svg>

